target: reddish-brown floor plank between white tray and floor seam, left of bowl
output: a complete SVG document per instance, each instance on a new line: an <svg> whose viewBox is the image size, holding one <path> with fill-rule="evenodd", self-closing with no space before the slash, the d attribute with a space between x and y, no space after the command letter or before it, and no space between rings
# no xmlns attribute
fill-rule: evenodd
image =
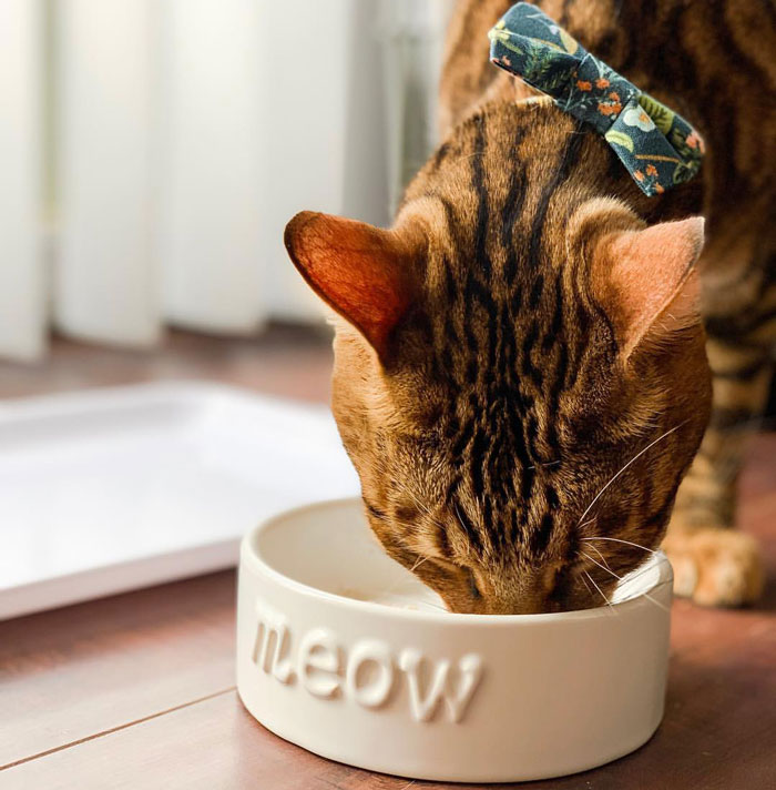
<svg viewBox="0 0 776 790"><path fill-rule="evenodd" d="M0 622L0 766L234 686L234 602L226 571Z"/></svg>

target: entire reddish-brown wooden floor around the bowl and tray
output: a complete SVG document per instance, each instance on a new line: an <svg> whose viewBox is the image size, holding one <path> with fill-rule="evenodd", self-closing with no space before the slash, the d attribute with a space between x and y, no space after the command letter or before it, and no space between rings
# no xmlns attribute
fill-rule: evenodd
<svg viewBox="0 0 776 790"><path fill-rule="evenodd" d="M0 366L0 396L205 377L320 399L328 366L325 341L293 332L173 335L152 356L60 342L47 365ZM610 766L521 788L776 788L776 434L757 438L743 487L745 528L767 557L765 600L745 611L675 604L655 737ZM0 788L445 787L323 760L256 723L234 689L234 602L229 571L0 624Z"/></svg>

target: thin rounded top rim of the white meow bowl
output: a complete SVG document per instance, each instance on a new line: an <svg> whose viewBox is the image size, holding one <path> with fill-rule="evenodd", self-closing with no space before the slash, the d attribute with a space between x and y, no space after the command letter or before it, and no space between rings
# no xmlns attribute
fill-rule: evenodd
<svg viewBox="0 0 776 790"><path fill-rule="evenodd" d="M258 539L258 536L270 529L273 526L277 525L279 521L286 520L288 518L294 518L295 516L307 513L308 510L317 510L319 508L339 507L341 505L353 505L361 503L361 498L358 496L339 497L337 499L324 499L319 502L308 503L306 505L298 505L296 507L288 508L287 510L280 510L272 516L268 516L255 527L249 529L243 537L239 546L239 571L243 573L244 569L249 569L253 574L265 576L270 581L284 588L285 590L302 596L310 601L316 601L318 604L327 604L329 606L337 606L343 609L350 609L361 614L371 614L379 617L385 617L390 620L418 620L421 622L433 622L437 625L443 624L466 624L467 626L482 627L487 626L489 628L497 627L514 627L518 625L539 625L539 624L550 624L558 621L576 621L576 620L589 620L599 619L602 617L617 617L621 615L629 614L634 609L642 608L644 605L655 606L653 601L650 600L650 594L662 589L666 585L673 584L674 574L673 568L668 558L662 549L657 549L652 555L657 557L657 569L658 577L657 581L649 587L643 592L640 592L632 598L619 601L616 604L610 604L609 606L600 606L594 609L574 609L573 611L548 611L539 612L534 615L478 615L478 614L462 614L455 611L428 611L426 609L400 609L397 607L387 606L386 604L377 604L369 600L358 600L357 598L349 598L345 595L337 595L336 592L329 592L328 590L321 590L313 585L307 585L304 581L298 581L297 579L286 576L282 571L274 568L269 563L262 558L259 551L255 549L254 541ZM670 616L670 609L666 610L666 617Z"/></svg>

